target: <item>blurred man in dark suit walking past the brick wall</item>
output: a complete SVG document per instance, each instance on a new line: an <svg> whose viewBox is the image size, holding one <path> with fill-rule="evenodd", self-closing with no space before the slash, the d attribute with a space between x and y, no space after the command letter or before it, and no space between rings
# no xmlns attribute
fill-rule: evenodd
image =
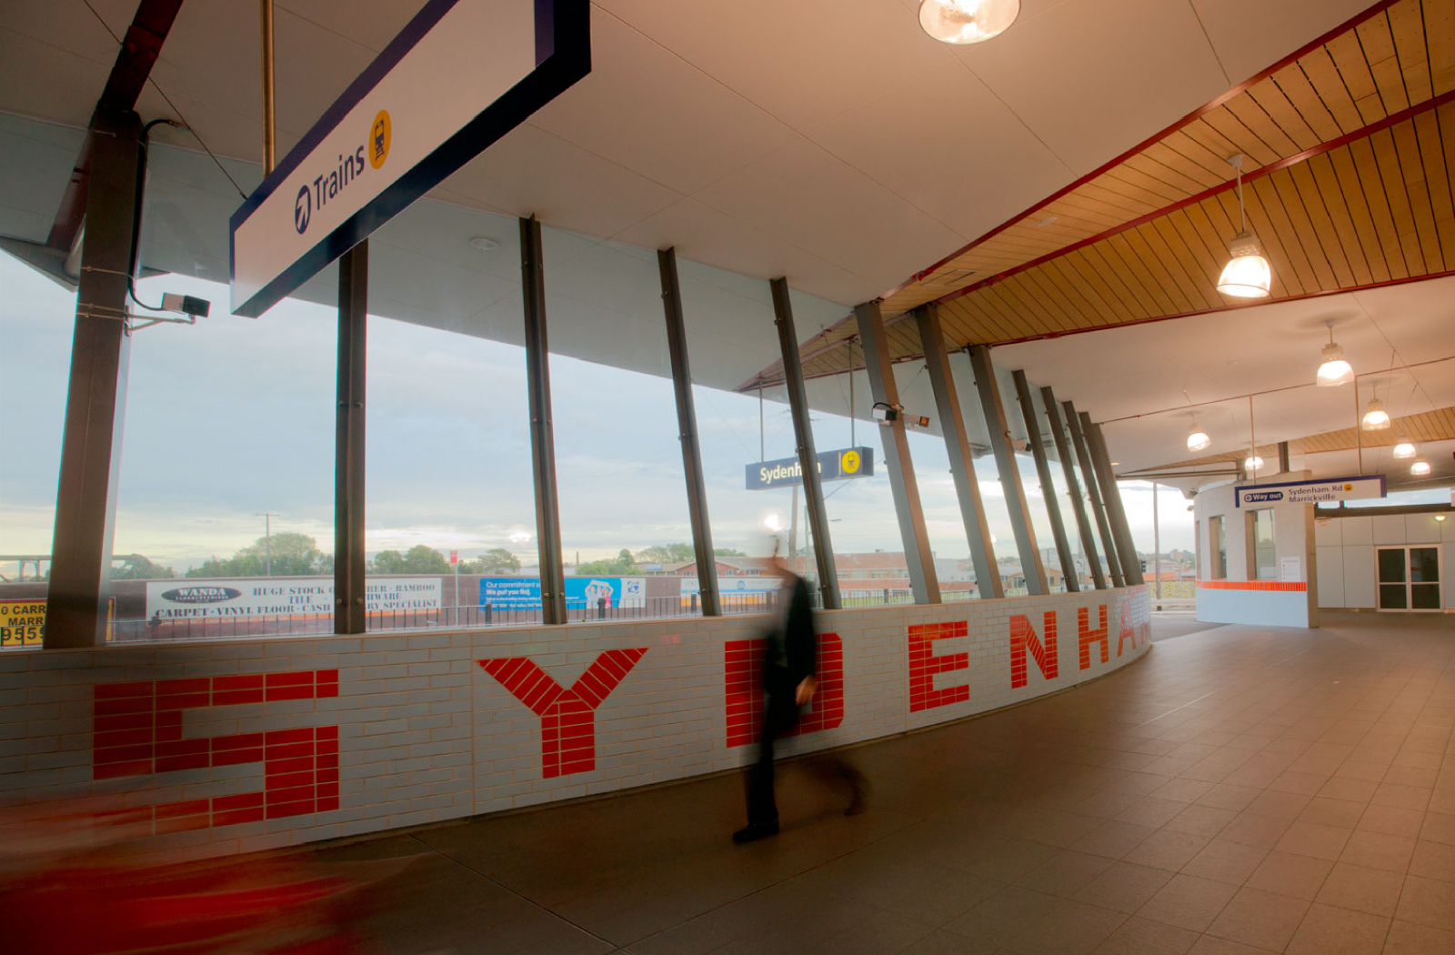
<svg viewBox="0 0 1455 955"><path fill-rule="evenodd" d="M768 648L762 659L762 728L758 732L758 758L748 769L748 825L732 834L735 843L778 834L778 804L773 796L773 741L799 724L799 710L813 700L818 689L813 638L813 610L809 606L809 585L794 574L787 562L773 552L781 588L781 613L768 627ZM831 777L850 790L847 815L864 809L863 774L841 757L815 757L810 769L818 776Z"/></svg>

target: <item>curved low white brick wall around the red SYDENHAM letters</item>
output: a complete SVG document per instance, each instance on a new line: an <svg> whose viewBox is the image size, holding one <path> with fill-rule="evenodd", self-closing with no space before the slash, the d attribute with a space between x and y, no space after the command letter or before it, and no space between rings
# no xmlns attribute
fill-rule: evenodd
<svg viewBox="0 0 1455 955"><path fill-rule="evenodd" d="M1087 607L1096 629L1100 606L1107 607L1109 662L1101 664L1093 646L1090 667L1081 670L1077 610ZM1016 689L1011 617L1024 614L1045 639L1045 611L1056 614L1058 677L1045 680L1029 658L1026 686ZM908 627L944 622L966 622L968 635L936 641L933 654L965 652L968 665L936 674L933 686L938 690L965 684L969 697L911 712ZM1123 623L1132 641L1119 657ZM1145 587L822 613L819 630L838 633L842 641L844 719L835 728L799 737L792 747L812 750L873 740L1065 689L1147 652L1148 625ZM0 655L0 799L115 792L131 805L180 804L179 812L192 812L186 825L169 824L163 818L169 809L157 811L159 846L207 855L415 825L733 769L751 747L726 745L725 643L755 639L761 627L761 617L729 617L7 651ZM479 662L530 658L556 684L572 687L607 651L642 648L646 652L588 721L595 729L595 767L556 776L543 772L543 719ZM324 681L333 671L336 696L322 689L332 687ZM308 677L320 687L308 684L308 696L243 703L226 696L237 677L274 674L268 678L272 696L271 680L278 674L308 673L323 674ZM176 683L180 680L192 683ZM196 687L202 687L202 696L186 697L180 708L183 742L163 744L160 713L166 705L156 700L180 699L166 694ZM153 709L143 710L151 715L141 719L154 715L156 726L111 732L113 724L102 722L115 709L108 694L134 693L154 694L125 699L153 700ZM208 737L246 742L249 737L239 734L311 734L313 728L332 726L338 728L338 808L322 795L332 792L329 744L319 744L317 758L298 776L282 760L282 748L268 750L268 758L276 756L279 761L265 764L259 757L224 764L217 758L223 744L205 742ZM115 748L121 747L115 740L135 744L138 732L140 748ZM185 742L198 740L204 742ZM202 763L188 769L147 763L164 758L164 745L211 745L212 756L182 757ZM575 750L567 745L563 751ZM141 763L124 761L132 758ZM103 769L108 766L111 770ZM132 769L118 770L122 766ZM320 801L284 805L282 799L294 798L287 795L294 790L284 788L285 770L291 773L288 780L313 779L317 788L307 798ZM218 799L253 798L260 804L260 796L247 793L262 790L265 779L269 786L278 785L276 792L268 792L266 812L243 811L262 818L228 821L240 817L226 815L231 804ZM196 801L202 808L192 805Z"/></svg>

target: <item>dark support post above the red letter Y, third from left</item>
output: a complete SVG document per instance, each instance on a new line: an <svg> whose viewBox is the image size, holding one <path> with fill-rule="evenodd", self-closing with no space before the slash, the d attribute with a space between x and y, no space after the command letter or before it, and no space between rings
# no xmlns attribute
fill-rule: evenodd
<svg viewBox="0 0 1455 955"><path fill-rule="evenodd" d="M541 565L541 622L566 623L556 498L556 432L550 411L550 348L546 342L546 261L541 224L521 220L521 291L525 298L525 386L531 400L531 470L535 475L535 552Z"/></svg>

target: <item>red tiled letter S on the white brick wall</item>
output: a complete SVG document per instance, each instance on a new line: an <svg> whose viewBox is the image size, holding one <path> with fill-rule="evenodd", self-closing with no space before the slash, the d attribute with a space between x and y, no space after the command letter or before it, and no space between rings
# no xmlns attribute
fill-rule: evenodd
<svg viewBox="0 0 1455 955"><path fill-rule="evenodd" d="M182 735L188 709L338 694L338 670L99 683L92 690L92 779L263 764L263 788L255 792L150 807L159 833L338 809L336 725Z"/></svg>

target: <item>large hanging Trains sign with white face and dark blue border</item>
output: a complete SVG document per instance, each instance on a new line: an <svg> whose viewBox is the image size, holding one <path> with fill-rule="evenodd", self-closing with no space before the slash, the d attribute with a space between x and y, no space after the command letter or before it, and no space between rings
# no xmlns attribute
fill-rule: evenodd
<svg viewBox="0 0 1455 955"><path fill-rule="evenodd" d="M589 0L429 0L233 213L233 313L266 312L589 71Z"/></svg>

